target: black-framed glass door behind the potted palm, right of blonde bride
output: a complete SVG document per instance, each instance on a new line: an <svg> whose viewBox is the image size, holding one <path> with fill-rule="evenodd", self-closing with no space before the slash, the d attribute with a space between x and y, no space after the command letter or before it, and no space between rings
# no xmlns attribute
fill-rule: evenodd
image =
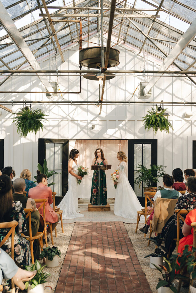
<svg viewBox="0 0 196 293"><path fill-rule="evenodd" d="M143 184L138 188L134 185L135 171L137 165L142 164L150 167L150 164L157 165L157 139L128 139L128 180L135 194L143 203Z"/></svg>

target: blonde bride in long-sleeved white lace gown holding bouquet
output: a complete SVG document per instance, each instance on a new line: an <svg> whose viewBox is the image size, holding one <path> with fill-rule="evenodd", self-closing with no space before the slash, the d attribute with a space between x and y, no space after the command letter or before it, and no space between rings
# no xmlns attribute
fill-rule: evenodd
<svg viewBox="0 0 196 293"><path fill-rule="evenodd" d="M140 202L131 187L126 176L127 156L123 151L117 153L119 178L114 184L116 187L116 196L114 202L114 214L126 219L137 219L137 211L142 209Z"/></svg>

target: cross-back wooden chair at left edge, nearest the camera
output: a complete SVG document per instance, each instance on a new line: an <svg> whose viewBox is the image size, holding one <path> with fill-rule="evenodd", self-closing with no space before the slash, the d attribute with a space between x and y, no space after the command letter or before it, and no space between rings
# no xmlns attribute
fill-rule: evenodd
<svg viewBox="0 0 196 293"><path fill-rule="evenodd" d="M16 221L11 222L4 222L0 223L0 229L8 229L10 228L9 232L6 234L4 239L0 242L0 247L4 245L7 239L11 236L11 258L14 260L14 235L15 235L15 228L19 223ZM11 279L11 292L15 293L15 285L13 280Z"/></svg>

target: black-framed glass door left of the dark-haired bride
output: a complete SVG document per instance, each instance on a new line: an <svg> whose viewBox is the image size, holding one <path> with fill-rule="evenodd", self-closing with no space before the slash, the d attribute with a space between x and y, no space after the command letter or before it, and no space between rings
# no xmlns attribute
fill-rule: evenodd
<svg viewBox="0 0 196 293"><path fill-rule="evenodd" d="M54 170L58 173L48 180L48 183L56 183L51 185L52 191L57 193L56 204L68 190L68 152L68 139L38 139L38 163L43 166L43 161L46 159L48 171Z"/></svg>

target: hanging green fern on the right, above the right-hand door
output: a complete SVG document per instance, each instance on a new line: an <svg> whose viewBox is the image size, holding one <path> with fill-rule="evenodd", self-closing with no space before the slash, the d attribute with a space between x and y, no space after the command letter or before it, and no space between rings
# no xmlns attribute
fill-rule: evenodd
<svg viewBox="0 0 196 293"><path fill-rule="evenodd" d="M144 130L150 130L150 128L153 128L155 131L155 135L158 130L169 133L169 128L172 130L173 127L170 123L170 121L163 115L167 109L161 109L160 111L158 110L158 107L156 106L156 111L154 108L151 108L151 110L148 110L148 114L146 114L144 117L141 117L143 120L142 122L144 123Z"/></svg>

